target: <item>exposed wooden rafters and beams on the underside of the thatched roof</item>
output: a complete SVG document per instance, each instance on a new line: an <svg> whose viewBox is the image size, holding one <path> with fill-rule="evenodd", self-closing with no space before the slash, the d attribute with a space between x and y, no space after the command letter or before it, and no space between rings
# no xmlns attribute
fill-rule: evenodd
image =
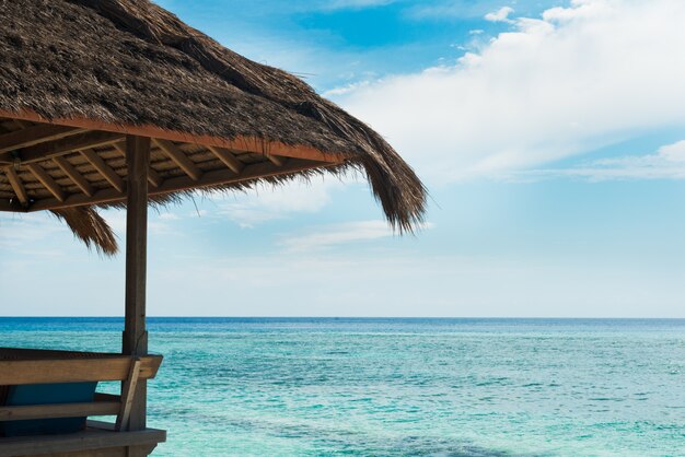
<svg viewBox="0 0 685 457"><path fill-rule="evenodd" d="M21 144L27 144L21 150L5 150L4 152L0 150L0 174L5 176L14 194L11 198L16 200L1 200L0 211L33 212L126 201L126 176L119 164L112 165L116 160L112 157L111 151L126 157L126 147L123 144L126 138L148 137L126 137L120 132L85 131L63 126L58 126L60 128L54 130L47 129L47 127L54 127L50 125L26 126L26 121L20 122L22 130L0 134L0 145L3 137L11 137L13 143L21 140ZM44 132L40 138L49 138L49 140L37 142L38 140L30 140L25 134L20 134L23 131L37 130ZM211 144L199 145L204 148L199 152L204 154L204 161L207 161L207 156L213 159L212 166L208 168L206 165L200 167L200 163L194 162L187 155L185 150L191 148L188 144L184 148L184 144L176 144L171 140L156 137L151 138L151 141L158 148L156 156L164 156L165 160L158 159L155 162L156 166L161 166L160 172L148 166L147 179L150 184L150 196L212 186L230 186L263 177L325 168L336 166L342 160L341 156L327 154L323 161L324 155L309 153L294 154L307 155L307 159L290 157L285 154L288 154L288 149L295 147L282 145L286 148L285 151L271 151L272 143L267 144L260 140L262 144L257 148L255 144L251 145L249 141L239 139L232 141L235 143L232 150ZM9 143L9 140L5 142ZM102 152L103 150L95 151L93 148L108 150ZM195 151L191 154L198 153L197 150L190 149L190 151ZM107 156L105 160L101 154L109 155L104 155ZM236 154L242 154L241 156L247 154L252 159L243 162ZM313 160L313 155L317 160ZM262 156L264 160L255 162L255 156ZM163 165L159 165L160 163ZM88 167L83 164L88 164ZM170 164L173 166L172 173L169 172ZM23 171L21 175L20 171ZM61 175L56 171L61 172ZM162 172L164 176L161 175ZM42 186L38 189L43 189L38 195L36 195L35 183Z"/></svg>

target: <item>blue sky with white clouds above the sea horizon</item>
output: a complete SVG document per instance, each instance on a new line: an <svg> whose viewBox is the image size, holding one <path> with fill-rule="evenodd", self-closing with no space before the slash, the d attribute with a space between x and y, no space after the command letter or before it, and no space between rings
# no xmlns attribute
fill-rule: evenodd
<svg viewBox="0 0 685 457"><path fill-rule="evenodd" d="M400 237L327 177L152 211L150 316L685 317L685 2L158 3L370 124L430 209ZM3 315L123 314L123 255L0 233Z"/></svg>

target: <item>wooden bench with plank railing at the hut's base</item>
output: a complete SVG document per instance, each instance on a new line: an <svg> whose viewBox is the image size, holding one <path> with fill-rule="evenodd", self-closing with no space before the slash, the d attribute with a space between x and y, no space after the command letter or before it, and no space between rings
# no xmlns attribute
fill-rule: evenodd
<svg viewBox="0 0 685 457"><path fill-rule="evenodd" d="M151 379L162 363L161 355L130 356L109 353L0 348L0 386L62 383L121 382L121 394L95 394L90 402L61 405L0 405L0 422L116 415L116 422L88 422L83 431L46 436L0 437L0 456L69 454L71 448L92 455L126 455L126 446L152 446L165 440L165 432L129 432L129 413L136 385ZM56 386L58 388L59 386ZM100 446L100 447L97 447ZM118 454L121 447L124 454ZM108 449L105 453L102 449ZM74 454L76 455L76 454ZM91 454L86 454L91 455Z"/></svg>

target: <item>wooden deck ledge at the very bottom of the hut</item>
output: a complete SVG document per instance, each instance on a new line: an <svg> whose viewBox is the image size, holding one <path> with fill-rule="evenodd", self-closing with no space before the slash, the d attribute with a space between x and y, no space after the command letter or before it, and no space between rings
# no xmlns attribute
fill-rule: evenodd
<svg viewBox="0 0 685 457"><path fill-rule="evenodd" d="M115 432L113 424L88 421L88 429L69 435L0 438L0 457L147 456L166 441L163 430Z"/></svg>

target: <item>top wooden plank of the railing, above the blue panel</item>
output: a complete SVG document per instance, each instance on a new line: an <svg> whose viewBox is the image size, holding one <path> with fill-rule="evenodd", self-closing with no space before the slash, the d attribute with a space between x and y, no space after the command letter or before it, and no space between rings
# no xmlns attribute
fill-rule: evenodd
<svg viewBox="0 0 685 457"><path fill-rule="evenodd" d="M161 355L141 356L140 377L150 379L162 363ZM124 380L131 358L0 360L0 386L23 384L81 383Z"/></svg>

